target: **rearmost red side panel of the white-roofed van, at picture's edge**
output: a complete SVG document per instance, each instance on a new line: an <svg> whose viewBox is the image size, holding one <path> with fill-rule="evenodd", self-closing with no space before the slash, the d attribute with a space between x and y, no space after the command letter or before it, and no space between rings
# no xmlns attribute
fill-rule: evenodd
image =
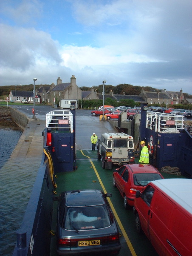
<svg viewBox="0 0 192 256"><path fill-rule="evenodd" d="M171 255L192 255L192 217L175 206L170 218L170 232L167 234L167 250ZM177 251L179 254L177 254Z"/></svg>

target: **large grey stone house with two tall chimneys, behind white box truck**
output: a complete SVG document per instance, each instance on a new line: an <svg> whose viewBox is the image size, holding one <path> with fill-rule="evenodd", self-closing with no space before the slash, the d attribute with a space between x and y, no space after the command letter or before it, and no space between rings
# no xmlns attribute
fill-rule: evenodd
<svg viewBox="0 0 192 256"><path fill-rule="evenodd" d="M62 83L60 77L56 80L56 86L51 89L49 101L51 103L60 101L61 99L66 100L81 100L82 91L76 85L76 78L73 75L71 77L71 82Z"/></svg>

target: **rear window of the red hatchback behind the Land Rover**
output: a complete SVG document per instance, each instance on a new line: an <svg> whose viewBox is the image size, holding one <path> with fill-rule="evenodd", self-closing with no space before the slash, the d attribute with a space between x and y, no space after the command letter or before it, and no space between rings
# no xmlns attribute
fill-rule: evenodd
<svg viewBox="0 0 192 256"><path fill-rule="evenodd" d="M133 175L133 182L136 186L147 186L149 182L157 179L162 179L162 177L159 174L150 174L150 173Z"/></svg>

